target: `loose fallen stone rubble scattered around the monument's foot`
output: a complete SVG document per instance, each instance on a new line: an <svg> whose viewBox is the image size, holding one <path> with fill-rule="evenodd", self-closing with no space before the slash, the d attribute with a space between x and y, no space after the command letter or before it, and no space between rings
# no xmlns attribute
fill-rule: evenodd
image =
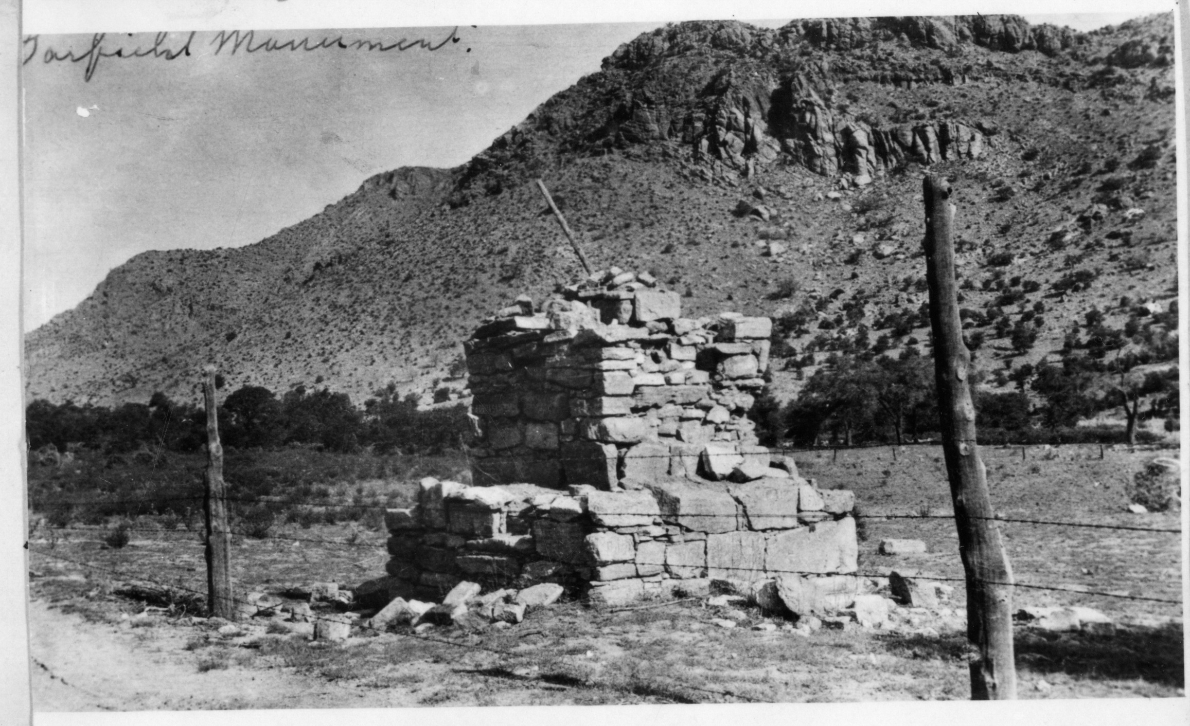
<svg viewBox="0 0 1190 726"><path fill-rule="evenodd" d="M363 606L355 597L356 592L367 592L368 587L369 583L363 583L356 590L346 590L334 583L313 583L283 590L288 596L307 593L303 601L250 593L239 622L220 618L190 618L190 621L211 628L209 637L238 644L250 645L265 634L296 634L318 645L362 641L361 638L384 632L422 634L436 628L509 628L566 596L565 588L557 583L484 592L480 583L463 581L440 602L397 596L377 608ZM952 586L927 576L892 571L888 577L714 578L706 581L704 589L687 594L687 597L696 600L704 613L690 625L691 630L719 627L809 637L820 631L858 628L937 638L966 631L964 613L951 606L953 593ZM129 620L148 618L152 614L150 609L154 608ZM1031 606L1014 614L1014 622L1025 628L1026 637L1033 638L1113 637L1119 630L1179 625L1182 621L1180 618L1150 620L1116 624L1100 611L1081 606Z"/></svg>

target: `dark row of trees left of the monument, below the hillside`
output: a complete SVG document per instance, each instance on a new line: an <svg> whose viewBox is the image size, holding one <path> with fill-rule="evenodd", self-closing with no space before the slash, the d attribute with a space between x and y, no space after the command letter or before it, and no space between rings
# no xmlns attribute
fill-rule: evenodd
<svg viewBox="0 0 1190 726"><path fill-rule="evenodd" d="M148 403L114 408L74 402L31 402L29 446L65 451L82 444L112 453L140 448L196 451L206 444L206 412L155 393ZM317 445L328 451L439 453L458 449L470 431L463 403L419 411L416 398L389 384L357 408L345 393L299 386L277 398L262 386L232 392L219 407L220 438L236 449Z"/></svg>

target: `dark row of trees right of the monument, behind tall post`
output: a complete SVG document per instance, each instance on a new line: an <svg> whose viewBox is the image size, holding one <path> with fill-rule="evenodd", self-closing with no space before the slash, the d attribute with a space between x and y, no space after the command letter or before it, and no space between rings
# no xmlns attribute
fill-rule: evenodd
<svg viewBox="0 0 1190 726"><path fill-rule="evenodd" d="M997 442L1125 442L1146 438L1138 424L1179 419L1178 369L1141 363L1135 355L1100 359L1071 352L1059 362L1014 369L1004 382L1016 390L979 389L972 382L979 438ZM1031 398L1029 392L1033 396ZM1097 413L1119 411L1123 431L1078 426ZM752 412L766 443L854 445L896 443L937 436L938 408L933 358L907 346L897 358L832 355L806 381L797 398L778 406L762 396Z"/></svg>

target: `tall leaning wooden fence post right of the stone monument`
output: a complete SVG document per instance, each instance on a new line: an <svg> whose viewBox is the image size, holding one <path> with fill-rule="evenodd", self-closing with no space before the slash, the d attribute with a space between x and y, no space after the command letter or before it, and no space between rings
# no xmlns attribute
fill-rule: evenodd
<svg viewBox="0 0 1190 726"><path fill-rule="evenodd" d="M971 699L1016 697L1013 656L1013 570L991 521L991 500L979 449L976 445L975 407L967 384L971 353L963 344L954 284L954 248L951 242L950 184L927 175L926 277L929 282L929 325L934 334L934 375L941 423L946 475L954 502L959 555L966 572L967 638L978 653L971 662Z"/></svg>

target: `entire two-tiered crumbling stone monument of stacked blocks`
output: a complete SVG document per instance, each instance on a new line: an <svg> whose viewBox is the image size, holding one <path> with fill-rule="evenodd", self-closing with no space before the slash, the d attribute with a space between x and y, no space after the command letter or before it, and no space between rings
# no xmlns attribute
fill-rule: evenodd
<svg viewBox="0 0 1190 726"><path fill-rule="evenodd" d="M794 612L847 605L852 493L816 489L747 418L771 328L683 318L614 268L486 320L465 345L475 486L425 478L388 511L394 588L555 582L620 603L726 580Z"/></svg>

